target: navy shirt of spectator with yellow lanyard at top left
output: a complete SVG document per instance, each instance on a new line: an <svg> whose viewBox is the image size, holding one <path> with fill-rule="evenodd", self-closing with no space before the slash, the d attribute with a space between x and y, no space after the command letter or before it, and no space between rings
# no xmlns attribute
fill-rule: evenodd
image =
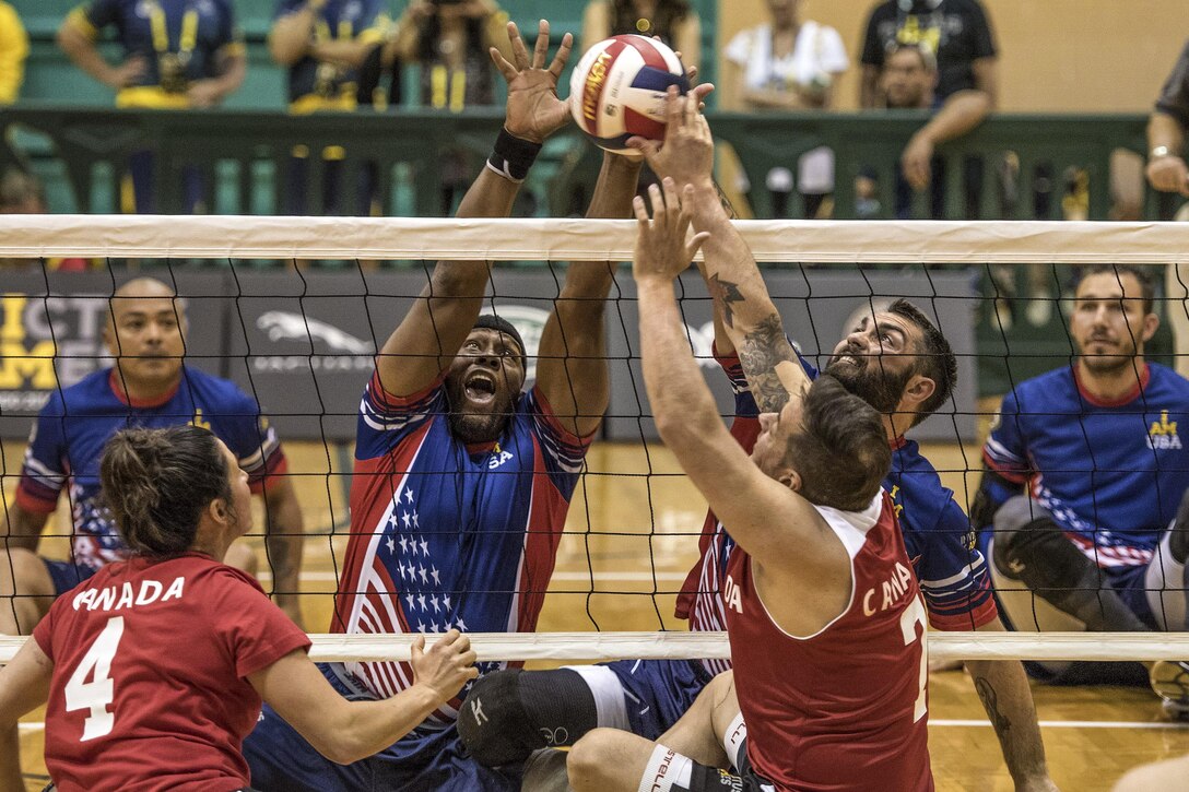
<svg viewBox="0 0 1189 792"><path fill-rule="evenodd" d="M244 52L231 0L90 0L70 19L92 38L114 27L125 57L145 59L137 86L161 84L163 55L180 56L181 76L193 81L218 76L219 56ZM155 26L164 40L155 36Z"/></svg>

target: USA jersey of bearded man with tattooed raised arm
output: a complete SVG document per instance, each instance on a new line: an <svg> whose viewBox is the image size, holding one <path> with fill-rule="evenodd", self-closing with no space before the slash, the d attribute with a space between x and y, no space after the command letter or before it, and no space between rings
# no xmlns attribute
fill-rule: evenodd
<svg viewBox="0 0 1189 792"><path fill-rule="evenodd" d="M760 435L760 410L738 357L718 357L718 362L735 391L731 436L750 452ZM811 378L817 377L817 369L804 358L801 366ZM990 574L975 546L970 521L914 440L901 438L892 444L892 470L883 489L895 507L930 626L938 630L971 630L998 618ZM732 547L722 523L712 511L707 513L698 542L698 562L678 597L677 616L688 620L691 630L726 629L721 591ZM728 660L704 664L711 673L730 667Z"/></svg>

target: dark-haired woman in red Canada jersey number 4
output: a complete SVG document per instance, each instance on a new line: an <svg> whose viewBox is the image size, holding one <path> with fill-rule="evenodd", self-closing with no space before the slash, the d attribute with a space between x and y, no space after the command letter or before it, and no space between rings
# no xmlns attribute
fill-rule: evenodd
<svg viewBox="0 0 1189 792"><path fill-rule="evenodd" d="M351 762L477 675L468 639L451 630L429 650L417 640L416 681L397 696L336 693L307 656L309 637L221 562L251 528L251 494L206 429L120 432L100 478L137 554L59 597L0 668L0 734L48 698L45 765L59 792L246 788L240 746L262 699L327 758ZM21 788L5 771L0 788Z"/></svg>

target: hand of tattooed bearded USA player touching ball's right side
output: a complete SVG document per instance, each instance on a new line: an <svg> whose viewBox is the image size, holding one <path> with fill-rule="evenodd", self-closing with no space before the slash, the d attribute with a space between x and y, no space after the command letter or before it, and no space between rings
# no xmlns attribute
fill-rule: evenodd
<svg viewBox="0 0 1189 792"><path fill-rule="evenodd" d="M713 86L698 86L682 96L671 86L665 95L665 140L628 139L628 145L644 156L658 176L669 176L682 186L711 181L715 139L706 117L699 112L702 100L711 90Z"/></svg>

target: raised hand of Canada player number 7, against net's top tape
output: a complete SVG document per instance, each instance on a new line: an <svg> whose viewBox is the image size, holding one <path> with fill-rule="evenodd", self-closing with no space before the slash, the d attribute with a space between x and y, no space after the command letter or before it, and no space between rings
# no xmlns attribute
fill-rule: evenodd
<svg viewBox="0 0 1189 792"><path fill-rule="evenodd" d="M666 176L662 186L663 196L661 187L648 187L648 197L653 205L652 220L648 219L642 197L637 195L631 202L638 221L636 253L631 263L631 275L637 282L672 281L690 266L698 249L710 238L710 233L703 231L686 241L690 210L682 206L677 183L672 178ZM685 186L684 196L686 202L693 200L691 184Z"/></svg>

